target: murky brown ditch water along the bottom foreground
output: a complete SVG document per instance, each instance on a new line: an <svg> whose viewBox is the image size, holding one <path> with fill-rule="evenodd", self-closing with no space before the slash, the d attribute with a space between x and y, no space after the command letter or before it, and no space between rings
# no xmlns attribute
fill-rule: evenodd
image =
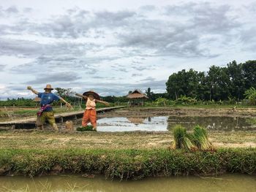
<svg viewBox="0 0 256 192"><path fill-rule="evenodd" d="M256 176L225 174L219 177L162 177L138 181L110 181L103 177L79 175L0 177L0 191L88 191L88 192L255 192Z"/></svg>

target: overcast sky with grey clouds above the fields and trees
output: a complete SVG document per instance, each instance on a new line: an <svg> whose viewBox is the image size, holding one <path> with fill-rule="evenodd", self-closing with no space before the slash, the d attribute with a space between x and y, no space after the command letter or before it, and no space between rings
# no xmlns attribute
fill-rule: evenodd
<svg viewBox="0 0 256 192"><path fill-rule="evenodd" d="M0 0L0 99L165 92L170 74L256 58L255 1Z"/></svg>

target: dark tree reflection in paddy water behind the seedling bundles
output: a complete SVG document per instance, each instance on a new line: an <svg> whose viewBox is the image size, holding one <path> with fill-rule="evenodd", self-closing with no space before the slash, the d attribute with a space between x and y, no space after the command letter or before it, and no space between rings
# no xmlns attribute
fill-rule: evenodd
<svg viewBox="0 0 256 192"><path fill-rule="evenodd" d="M253 130L252 125L256 124L256 119L252 118L232 118L232 117L181 117L170 116L167 120L168 129L180 124L192 130L194 126L199 125L210 130L216 131L239 131Z"/></svg>

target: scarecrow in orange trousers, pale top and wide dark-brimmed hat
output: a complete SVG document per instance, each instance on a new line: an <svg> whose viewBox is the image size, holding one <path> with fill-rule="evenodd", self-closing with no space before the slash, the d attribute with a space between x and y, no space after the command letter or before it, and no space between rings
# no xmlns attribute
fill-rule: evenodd
<svg viewBox="0 0 256 192"><path fill-rule="evenodd" d="M94 91L86 91L83 95L76 93L77 96L82 97L86 101L86 110L83 113L82 126L86 127L90 122L94 130L97 130L97 112L96 103L109 105L108 102L100 100L99 94Z"/></svg>

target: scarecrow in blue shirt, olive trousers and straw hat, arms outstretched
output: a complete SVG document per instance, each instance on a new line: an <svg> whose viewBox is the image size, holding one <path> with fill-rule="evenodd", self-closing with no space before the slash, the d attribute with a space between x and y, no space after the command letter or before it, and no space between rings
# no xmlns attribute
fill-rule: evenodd
<svg viewBox="0 0 256 192"><path fill-rule="evenodd" d="M53 114L53 107L50 106L50 104L53 103L53 101L59 101L61 100L66 104L67 107L72 107L67 101L62 99L60 96L57 96L54 93L51 93L53 91L53 88L51 85L46 85L45 92L39 93L38 91L35 91L31 86L28 86L28 90L32 91L33 93L37 94L37 96L41 99L40 105L41 108L39 112L37 112L37 128L43 129L43 123L45 123L46 120L50 123L50 126L54 128L55 131L59 131L58 126L56 125L56 121Z"/></svg>

